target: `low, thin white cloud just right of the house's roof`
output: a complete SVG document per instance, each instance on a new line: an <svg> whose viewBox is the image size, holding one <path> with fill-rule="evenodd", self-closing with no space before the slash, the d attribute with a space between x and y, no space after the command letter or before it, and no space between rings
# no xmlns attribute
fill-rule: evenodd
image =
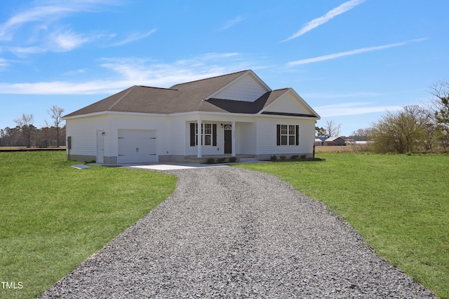
<svg viewBox="0 0 449 299"><path fill-rule="evenodd" d="M315 106L314 110L321 117L331 117L331 116L351 116L358 114L385 112L385 111L398 111L401 110L402 106L378 106L371 102L349 102L342 104L333 104L326 106Z"/></svg>

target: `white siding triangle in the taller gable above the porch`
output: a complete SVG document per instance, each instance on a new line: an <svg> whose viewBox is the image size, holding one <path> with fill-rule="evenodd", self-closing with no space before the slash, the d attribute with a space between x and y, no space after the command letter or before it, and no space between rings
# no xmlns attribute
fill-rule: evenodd
<svg viewBox="0 0 449 299"><path fill-rule="evenodd" d="M234 99L236 101L254 102L261 95L268 90L253 78L247 75L239 78L238 81L232 83L224 90L221 90L216 95L216 99Z"/></svg>

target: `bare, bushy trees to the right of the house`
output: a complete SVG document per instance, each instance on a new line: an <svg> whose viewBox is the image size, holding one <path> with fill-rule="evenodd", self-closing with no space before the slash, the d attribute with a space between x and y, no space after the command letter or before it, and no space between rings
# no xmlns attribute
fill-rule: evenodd
<svg viewBox="0 0 449 299"><path fill-rule="evenodd" d="M349 139L368 140L377 153L447 152L449 150L449 82L431 85L429 103L387 111L371 127L359 129ZM316 127L317 136L339 136L340 125L328 121Z"/></svg>

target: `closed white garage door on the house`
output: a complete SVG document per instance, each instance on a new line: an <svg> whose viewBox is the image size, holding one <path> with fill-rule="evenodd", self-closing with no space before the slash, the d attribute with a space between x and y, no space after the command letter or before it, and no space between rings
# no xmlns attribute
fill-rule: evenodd
<svg viewBox="0 0 449 299"><path fill-rule="evenodd" d="M157 162L156 130L119 130L119 163Z"/></svg>

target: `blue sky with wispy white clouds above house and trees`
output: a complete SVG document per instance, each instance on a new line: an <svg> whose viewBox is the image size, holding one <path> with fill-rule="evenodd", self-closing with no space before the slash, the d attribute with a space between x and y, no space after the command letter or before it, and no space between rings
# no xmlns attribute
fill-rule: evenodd
<svg viewBox="0 0 449 299"><path fill-rule="evenodd" d="M447 0L0 2L0 128L132 85L253 69L342 134L449 81Z"/></svg>

